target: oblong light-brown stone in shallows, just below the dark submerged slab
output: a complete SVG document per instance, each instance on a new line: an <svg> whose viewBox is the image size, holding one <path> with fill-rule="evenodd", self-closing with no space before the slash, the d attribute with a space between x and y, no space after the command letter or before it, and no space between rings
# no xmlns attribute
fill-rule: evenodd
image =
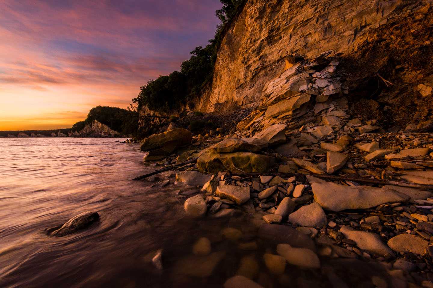
<svg viewBox="0 0 433 288"><path fill-rule="evenodd" d="M310 249L294 248L289 244L278 244L277 253L283 256L289 264L305 268L320 268L319 257Z"/></svg>

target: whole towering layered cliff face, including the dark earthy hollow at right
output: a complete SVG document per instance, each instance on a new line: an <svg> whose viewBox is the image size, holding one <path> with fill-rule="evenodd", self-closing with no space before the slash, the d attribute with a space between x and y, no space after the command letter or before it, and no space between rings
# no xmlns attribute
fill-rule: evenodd
<svg viewBox="0 0 433 288"><path fill-rule="evenodd" d="M257 107L269 97L269 82L288 67L285 58L289 62L290 55L313 59L330 51L327 58L339 60L341 82L351 102L382 103L393 98L390 110L402 101L398 97L402 91L410 92L413 97L404 101L412 108L405 107L404 114L416 114L431 95L430 2L248 0L223 38L212 89L196 108L209 112L230 105ZM378 73L393 85L385 87ZM420 117L427 117L426 113Z"/></svg>

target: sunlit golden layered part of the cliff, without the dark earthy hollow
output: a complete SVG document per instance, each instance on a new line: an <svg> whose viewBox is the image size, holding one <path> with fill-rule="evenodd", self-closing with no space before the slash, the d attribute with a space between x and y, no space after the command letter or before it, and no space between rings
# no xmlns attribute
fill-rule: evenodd
<svg viewBox="0 0 433 288"><path fill-rule="evenodd" d="M352 57L365 49L365 41L379 38L370 34L394 29L396 19L400 25L402 19L427 19L425 5L399 0L249 0L223 38L211 89L196 108L215 111L230 103L255 107L266 96L265 85L288 68L285 57L312 58L329 50L329 57ZM390 26L393 21L397 24Z"/></svg>

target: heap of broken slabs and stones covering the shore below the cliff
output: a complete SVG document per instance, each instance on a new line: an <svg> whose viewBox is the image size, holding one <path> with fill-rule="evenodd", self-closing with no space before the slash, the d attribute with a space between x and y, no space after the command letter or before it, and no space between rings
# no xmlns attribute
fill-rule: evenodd
<svg viewBox="0 0 433 288"><path fill-rule="evenodd" d="M323 287L433 287L433 134L386 131L353 114L339 63L326 55L288 61L235 133L194 136L166 158L190 138L154 145L164 153L160 164L197 158L186 166L195 171L176 175L189 185L178 192L187 217L245 217L256 228L249 241L235 228L221 232L255 252L227 275L226 288L284 287L295 266L324 279ZM198 277L225 257L207 238L193 251L178 265L200 263L190 271ZM344 278L354 266L369 278Z"/></svg>

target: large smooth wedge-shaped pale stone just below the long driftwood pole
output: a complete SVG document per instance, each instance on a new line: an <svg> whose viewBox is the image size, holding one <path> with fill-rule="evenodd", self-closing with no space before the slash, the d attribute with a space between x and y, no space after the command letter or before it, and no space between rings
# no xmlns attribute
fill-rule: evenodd
<svg viewBox="0 0 433 288"><path fill-rule="evenodd" d="M308 180L311 180L308 177ZM406 202L410 197L401 192L370 186L344 186L333 182L314 181L314 200L323 209L343 211L346 209L367 209L384 203Z"/></svg>

